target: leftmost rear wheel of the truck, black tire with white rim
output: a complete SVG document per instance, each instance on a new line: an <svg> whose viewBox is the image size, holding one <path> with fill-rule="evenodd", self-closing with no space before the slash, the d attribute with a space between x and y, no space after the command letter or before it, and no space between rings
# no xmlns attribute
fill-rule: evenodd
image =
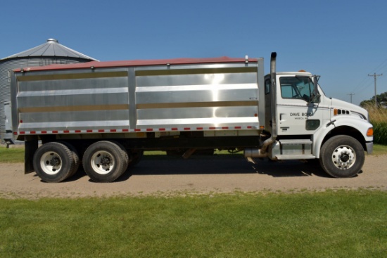
<svg viewBox="0 0 387 258"><path fill-rule="evenodd" d="M34 170L46 182L67 179L77 166L72 151L63 143L45 143L34 154Z"/></svg>

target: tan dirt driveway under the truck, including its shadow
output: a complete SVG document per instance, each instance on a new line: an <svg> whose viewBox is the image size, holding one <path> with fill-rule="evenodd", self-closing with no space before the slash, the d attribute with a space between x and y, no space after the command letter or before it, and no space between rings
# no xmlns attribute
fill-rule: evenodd
<svg viewBox="0 0 387 258"><path fill-rule="evenodd" d="M334 179L318 166L300 162L246 160L230 155L146 156L113 183L94 183L80 171L62 183L44 183L24 174L24 165L0 164L0 198L80 198L115 195L192 195L200 193L298 192L367 188L387 191L387 155L367 156L362 172Z"/></svg>

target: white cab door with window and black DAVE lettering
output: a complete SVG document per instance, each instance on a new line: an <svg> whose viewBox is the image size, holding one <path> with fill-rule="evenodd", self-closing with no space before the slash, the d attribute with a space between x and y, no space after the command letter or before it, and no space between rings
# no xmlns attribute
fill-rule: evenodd
<svg viewBox="0 0 387 258"><path fill-rule="evenodd" d="M310 77L282 76L277 82L277 132L279 135L313 134L322 124L319 103L310 103Z"/></svg>

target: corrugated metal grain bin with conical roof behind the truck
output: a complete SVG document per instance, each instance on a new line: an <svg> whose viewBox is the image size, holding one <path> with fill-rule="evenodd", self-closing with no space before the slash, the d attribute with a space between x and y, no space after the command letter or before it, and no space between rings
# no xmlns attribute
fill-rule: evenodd
<svg viewBox="0 0 387 258"><path fill-rule="evenodd" d="M11 120L11 114L7 114L11 110L11 91L10 91L10 71L16 68L44 66L51 64L70 64L70 63L86 63L96 60L89 56L69 49L62 44L59 44L56 39L47 39L46 43L36 46L27 51L16 53L0 59L0 131L1 143L11 139L12 134L8 133L6 122Z"/></svg>

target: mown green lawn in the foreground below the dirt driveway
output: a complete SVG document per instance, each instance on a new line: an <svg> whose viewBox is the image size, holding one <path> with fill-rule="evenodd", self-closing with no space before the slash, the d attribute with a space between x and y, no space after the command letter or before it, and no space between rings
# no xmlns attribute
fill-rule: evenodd
<svg viewBox="0 0 387 258"><path fill-rule="evenodd" d="M386 257L382 191L0 199L0 257Z"/></svg>

